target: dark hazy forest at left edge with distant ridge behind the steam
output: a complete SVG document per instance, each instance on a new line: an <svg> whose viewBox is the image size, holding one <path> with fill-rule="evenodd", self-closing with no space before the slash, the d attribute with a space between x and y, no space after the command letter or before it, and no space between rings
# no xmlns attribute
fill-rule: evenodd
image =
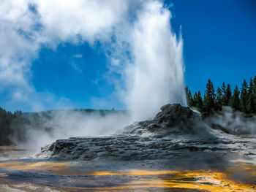
<svg viewBox="0 0 256 192"><path fill-rule="evenodd" d="M53 131L58 124L51 123L54 117L59 114L72 115L79 112L81 115L97 114L102 117L110 114L122 113L122 110L91 110L91 109L66 109L66 110L48 110L42 112L8 112L0 107L0 145L12 145L26 141L27 131L40 130L48 132Z"/></svg>

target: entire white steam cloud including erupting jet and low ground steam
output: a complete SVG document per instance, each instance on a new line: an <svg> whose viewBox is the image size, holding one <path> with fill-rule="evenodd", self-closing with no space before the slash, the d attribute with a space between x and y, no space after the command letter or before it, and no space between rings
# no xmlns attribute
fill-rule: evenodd
<svg viewBox="0 0 256 192"><path fill-rule="evenodd" d="M37 93L31 85L31 61L42 46L100 42L109 58L113 95L127 105L130 115L56 112L48 122L56 128L52 139L113 134L132 120L152 118L163 104L186 104L183 43L173 34L170 10L162 1L3 0L0 7L0 80L3 88L12 87L10 105L23 103L31 110L56 103L72 107L69 99ZM121 78L116 80L114 73Z"/></svg>

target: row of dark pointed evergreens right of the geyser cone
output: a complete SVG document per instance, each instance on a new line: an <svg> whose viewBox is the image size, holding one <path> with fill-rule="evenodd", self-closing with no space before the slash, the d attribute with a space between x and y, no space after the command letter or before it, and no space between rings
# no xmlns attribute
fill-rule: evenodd
<svg viewBox="0 0 256 192"><path fill-rule="evenodd" d="M208 80L206 91L202 96L200 91L193 95L188 87L185 88L187 104L194 107L203 115L211 115L214 111L222 110L223 106L230 106L233 110L244 112L244 114L256 114L256 76L250 78L249 83L244 80L241 88L233 89L230 84L222 83L221 88L214 89L214 84Z"/></svg>

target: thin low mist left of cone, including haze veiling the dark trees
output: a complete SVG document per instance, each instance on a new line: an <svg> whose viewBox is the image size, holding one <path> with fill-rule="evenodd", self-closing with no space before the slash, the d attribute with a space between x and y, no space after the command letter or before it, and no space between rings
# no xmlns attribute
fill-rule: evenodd
<svg viewBox="0 0 256 192"><path fill-rule="evenodd" d="M56 139L115 134L130 123L127 112L116 110L53 110L25 113L22 118L12 124L12 129L19 131L13 131L9 138L36 150Z"/></svg>

